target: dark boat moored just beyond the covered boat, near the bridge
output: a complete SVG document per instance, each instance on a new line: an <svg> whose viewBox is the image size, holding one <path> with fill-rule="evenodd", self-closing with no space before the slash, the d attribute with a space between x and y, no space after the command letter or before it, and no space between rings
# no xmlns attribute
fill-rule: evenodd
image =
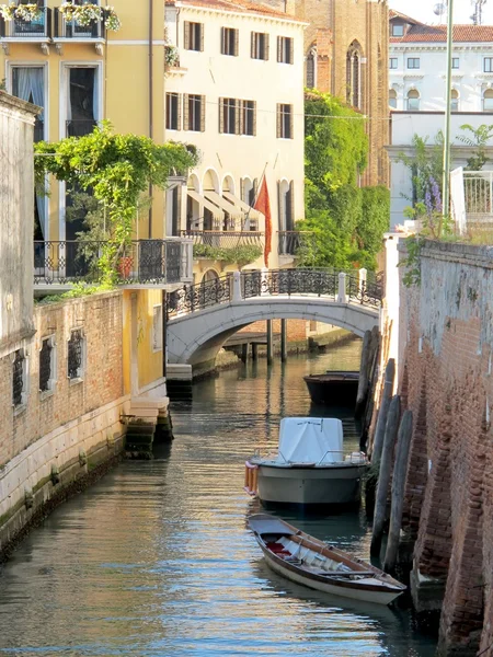
<svg viewBox="0 0 493 657"><path fill-rule="evenodd" d="M354 406L356 402L359 372L329 370L303 379L313 404Z"/></svg>

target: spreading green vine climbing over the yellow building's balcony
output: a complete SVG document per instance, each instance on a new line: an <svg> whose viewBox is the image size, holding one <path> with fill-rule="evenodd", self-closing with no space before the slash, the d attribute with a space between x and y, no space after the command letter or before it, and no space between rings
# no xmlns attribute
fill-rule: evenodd
<svg viewBox="0 0 493 657"><path fill-rule="evenodd" d="M130 244L139 199L154 185L161 189L168 177L197 162L196 153L181 143L157 145L148 137L114 135L108 122L83 137L35 145L35 174L39 189L51 173L68 187L91 191L105 208L106 239L99 267L104 283L117 278L116 264Z"/></svg>

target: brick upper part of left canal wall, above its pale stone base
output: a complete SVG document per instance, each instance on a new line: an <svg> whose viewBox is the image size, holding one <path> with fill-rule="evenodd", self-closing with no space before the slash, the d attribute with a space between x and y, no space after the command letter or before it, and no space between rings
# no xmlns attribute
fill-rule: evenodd
<svg viewBox="0 0 493 657"><path fill-rule="evenodd" d="M42 436L123 395L119 292L38 306L34 324L36 335L26 345L27 403L22 410L12 406L12 355L0 359L0 465ZM67 376L72 328L82 328L85 337L85 372L79 382ZM39 349L42 339L50 335L56 343L56 384L53 394L42 394Z"/></svg>

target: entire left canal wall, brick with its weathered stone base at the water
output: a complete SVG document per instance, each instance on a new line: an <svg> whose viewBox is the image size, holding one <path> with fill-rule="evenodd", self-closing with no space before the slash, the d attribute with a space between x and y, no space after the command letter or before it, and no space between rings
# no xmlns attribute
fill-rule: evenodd
<svg viewBox="0 0 493 657"><path fill-rule="evenodd" d="M12 405L12 357L0 359L0 554L60 486L122 450L121 419L129 407L122 371L121 292L38 306L34 325L26 402L20 407ZM69 379L68 341L74 328L83 331L85 357L81 377ZM53 390L39 392L39 349L48 336L55 344L56 373Z"/></svg>

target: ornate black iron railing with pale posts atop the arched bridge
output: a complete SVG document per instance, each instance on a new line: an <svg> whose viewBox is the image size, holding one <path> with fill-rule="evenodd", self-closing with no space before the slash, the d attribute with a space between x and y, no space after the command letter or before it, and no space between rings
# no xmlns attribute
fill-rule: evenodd
<svg viewBox="0 0 493 657"><path fill-rule="evenodd" d="M234 277L239 276L239 297L234 293ZM369 279L368 279L369 278ZM204 310L229 301L265 296L316 296L330 301L360 303L379 308L383 296L381 274L366 276L365 270L330 269L263 269L228 274L221 278L184 286L167 296L169 319Z"/></svg>

